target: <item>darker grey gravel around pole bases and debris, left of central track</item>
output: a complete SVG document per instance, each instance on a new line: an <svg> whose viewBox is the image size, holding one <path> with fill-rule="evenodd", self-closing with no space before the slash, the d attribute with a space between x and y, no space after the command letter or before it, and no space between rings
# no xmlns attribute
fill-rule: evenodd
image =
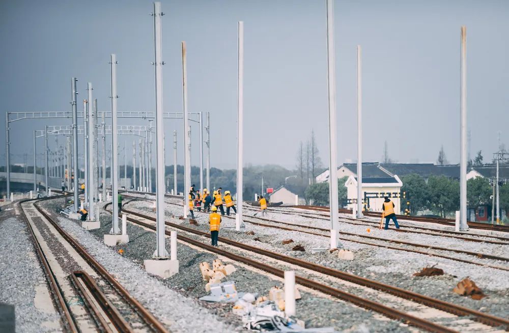
<svg viewBox="0 0 509 333"><path fill-rule="evenodd" d="M142 202L133 202L132 204L143 205ZM152 206L151 203L145 204L150 207ZM151 209L149 208L149 210ZM87 239L85 242L86 243L85 246L87 248L88 248L87 244L89 244L89 242L91 245L94 243L95 245L97 245L97 243L101 243L103 235L109 232L111 228L110 216L111 215L109 213L102 214L101 228L96 230L90 230L88 232L89 236L87 238L90 238L93 235L95 236L95 238L98 238L99 241L97 241L96 239L95 242L91 242L90 240ZM66 219L61 218L61 220L64 225L68 223L75 225L74 222L69 222ZM68 226L66 226L66 228L67 227ZM123 259L129 261L129 265L127 265L128 267L135 265L138 270L143 269L142 268L143 259L150 257L155 250L155 234L153 231L146 230L143 227L139 227L131 223L128 223L127 227L130 243L116 246L113 249L115 251L118 251L120 249L124 250ZM74 228L70 227L69 229L73 230ZM77 229L80 228L78 227ZM87 234L87 232L84 233ZM79 237L81 237L81 235L79 235ZM80 238L80 241L83 240ZM203 241L203 239L201 241ZM167 251L169 252L169 242L166 243L166 247ZM95 254L96 250L91 248L91 252L97 258L97 254ZM111 252L114 253L116 256L119 256L116 252L114 251ZM227 329L226 331L232 330L244 331L240 327L241 326L240 317L234 315L231 312L232 304L191 301L191 299L196 299L206 294L205 282L202 280L198 264L202 261L208 261L211 263L213 259L217 258L217 255L208 252L198 251L189 246L179 244L178 258L180 263L180 274L177 274L166 280L156 279L157 282L166 286L167 287L166 289L168 290L173 289L177 291L180 297L182 298L188 297L186 298L188 302L192 302L195 306L201 306L203 307L202 309L206 309L202 310L202 312L206 311L216 316L216 318L231 324L229 329ZM224 261L228 262L228 260ZM279 280L273 280L264 274L252 272L251 270L247 270L235 262L232 263L236 266L237 271L231 276L231 280L235 281L235 284L239 291L249 291L258 292L260 294L268 294L268 291L272 286L274 285L282 286L282 283ZM108 265L106 266L108 268L108 271L117 270L115 267L109 268ZM143 273L145 274L145 272ZM145 279L147 278L145 277L144 281ZM256 281L256 284L253 284L253 281ZM137 297L136 294L134 296ZM137 298L140 299L139 297ZM140 299L140 301L143 301L143 299ZM317 309L320 309L320 311L317 311ZM194 312L198 311L194 310ZM206 325L208 326L213 326L215 331L223 331L219 328L219 326L211 325L210 322L207 320L205 321L204 319L191 320L191 318L189 318L188 316L187 310L182 310L182 308L180 308L180 313L186 315L188 321L193 321L194 323L206 323ZM349 303L335 301L328 297L319 297L314 293L308 292L302 292L302 299L300 299L300 301L297 302L297 313L298 317L305 321L306 327L334 326L339 331L348 332L365 331L364 330L365 327L369 327L371 331L377 332L410 331L406 325L400 322L388 320L387 318L380 318L378 314L374 314L370 311L357 308ZM168 319L172 318L171 315L168 315L167 317ZM348 320L346 318L348 318ZM192 329L188 329L188 331L192 331ZM203 329L199 329L196 331L203 331ZM415 329L412 328L412 331L415 331Z"/></svg>

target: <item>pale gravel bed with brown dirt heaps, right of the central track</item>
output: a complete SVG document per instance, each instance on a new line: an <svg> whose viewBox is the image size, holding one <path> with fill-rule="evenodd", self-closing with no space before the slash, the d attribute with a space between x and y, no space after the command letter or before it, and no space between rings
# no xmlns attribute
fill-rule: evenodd
<svg viewBox="0 0 509 333"><path fill-rule="evenodd" d="M131 208L136 207L144 211L147 215L153 214L150 209L151 203L135 201L129 205ZM166 215L179 216L181 215L181 209L177 206L168 205L166 207ZM197 213L195 217L200 226L196 227L188 223L186 226L205 231L206 224L208 223L207 216ZM185 220L178 221L184 223ZM280 252L307 261L317 262L327 267L339 269L383 283L397 285L421 294L443 299L447 302L453 302L472 309L489 312L500 317L506 318L509 314L509 310L507 310L509 309L509 272L506 271L481 268L477 265L461 263L454 260L362 245L348 241L343 241L343 243L348 249L355 252L355 259L353 261L344 261L337 259L336 256L330 255L328 252L316 254L310 252L314 247L328 247L328 240L326 238L306 235L296 231L260 227L249 223L246 223L246 231L253 231L254 235L246 235L245 233L238 233L235 232L235 230L224 228L228 226L233 227L235 225L233 219L224 219L222 225L223 228L220 231L220 237L241 241L248 245ZM395 231L390 230L389 232L395 233ZM259 238L260 241L255 241L255 238ZM293 239L295 242L282 245L281 241L283 239ZM463 244L468 243L462 242ZM306 251L292 251L291 249L296 244L302 245ZM459 256L460 254L454 255ZM471 256L467 257L472 259ZM491 261L500 264L496 261ZM436 267L443 269L446 274L427 278L413 276L413 273L432 265L436 265ZM485 297L480 301L475 301L469 297L453 293L451 290L465 277L471 277L489 297Z"/></svg>

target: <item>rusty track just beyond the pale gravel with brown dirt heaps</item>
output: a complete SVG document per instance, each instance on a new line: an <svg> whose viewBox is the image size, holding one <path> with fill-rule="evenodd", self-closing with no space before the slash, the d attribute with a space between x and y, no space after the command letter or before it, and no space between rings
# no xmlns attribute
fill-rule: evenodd
<svg viewBox="0 0 509 333"><path fill-rule="evenodd" d="M139 197L129 196L129 195L125 195L125 197L129 197L129 198L133 198L133 199L142 199L142 198L139 198ZM151 202L153 201L153 199L146 199L146 200L147 201L151 201ZM175 203L167 203L167 204L174 205L174 206L179 206L180 207L180 205L175 204ZM207 214L205 212L196 212L196 213ZM234 217L230 217L230 216L223 216L223 217L230 218L230 219L235 219ZM288 225L288 226L292 226L293 228L277 226L277 225L273 225L273 224L260 223L258 221L254 221L252 219L248 219L247 216L243 217L244 222L251 223L251 224L254 224L254 225L259 225L259 226L262 226L262 227L269 227L269 228L276 228L276 229L282 229L282 230L288 230L288 231L303 232L303 233L308 234L308 235L314 235L314 236L325 237L325 238L329 238L330 237L330 229L326 229L326 228L320 228L320 227L314 227L314 226L305 226L305 225L300 225L300 224L295 224L295 223L277 221L277 220L273 220L273 219L266 219L266 218L262 218L262 217L257 217L257 219L263 220L263 221L267 221L267 222L270 222L270 223L280 224L280 225ZM299 229L296 229L296 228L299 228ZM325 232L325 234L319 234L317 232L307 231L306 229L307 230L323 231L323 232ZM495 256L495 255L491 255L491 254L479 253L479 252L471 252L471 251L465 251L465 250L458 250L458 249L453 249L453 248L444 248L444 247L431 246L431 245L427 245L427 244L418 244L418 243L399 241L399 240L384 239L384 238L380 238L380 237L354 234L352 232L346 232L346 231L342 231L341 232L341 236L342 236L342 239L344 239L346 241L350 241L350 242L354 242L354 243L359 243L359 244L363 244L363 245L370 245L370 246L383 247L383 248L392 249L392 250L399 250L399 251L413 252L413 253L419 253L419 254L424 254L424 255L431 255L431 256L436 256L436 257L445 258L445 259L449 259L449 260L455 260L455 261L465 262L465 263L469 263L469 264L474 264L474 265L478 265L478 266L481 266L481 267L488 267L488 268L494 268L494 269L503 270L503 271L509 271L509 268L503 267L503 266L500 266L500 265L491 265L491 264L487 264L487 263L483 263L483 262L477 262L477 261L472 261L472 260L467 260L467 259L462 259L462 258L457 258L457 257L451 257L451 256L439 254L439 253L433 253L433 252L430 253L430 252L426 252L426 251L419 251L419 250L413 250L413 249L408 249L408 248L400 248L400 247L394 247L394 246L383 245L383 244L378 244L378 243L363 242L363 241L359 241L357 239L348 238L348 237L345 237L345 236L360 237L360 238L365 238L365 239L374 240L374 241L386 242L386 243L390 243L390 244L401 244L401 245L407 245L407 246L413 246L413 247L425 248L425 249L431 249L431 250L461 253L461 254L466 254L466 255L469 255L469 256L473 256L473 257L478 258L478 259L486 258L486 259L492 259L492 260L499 260L499 261L509 262L509 258ZM499 244L499 243L497 242L495 244ZM505 244L505 243L502 243L502 244ZM509 244L509 243L507 243L507 244Z"/></svg>

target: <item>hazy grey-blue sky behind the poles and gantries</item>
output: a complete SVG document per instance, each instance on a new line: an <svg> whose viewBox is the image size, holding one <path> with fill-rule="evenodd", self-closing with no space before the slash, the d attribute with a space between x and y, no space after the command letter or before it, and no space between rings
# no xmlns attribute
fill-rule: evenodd
<svg viewBox="0 0 509 333"><path fill-rule="evenodd" d="M210 111L211 165L236 165L237 21L244 21L244 159L294 167L300 141L315 130L328 163L325 1L162 1L164 110L182 111L180 42L187 42L189 111ZM0 3L0 112L78 110L92 82L110 110L109 54L116 53L119 110L154 109L153 18L149 1ZM459 161L460 26L467 26L467 108L473 155L485 160L509 140L509 2L335 1L338 163L356 160L356 46L363 56L364 161L380 160L387 140L399 162L434 162L443 144ZM32 153L32 130L11 128L13 154ZM147 122L148 123L148 122ZM119 124L143 124L119 120ZM182 121L167 120L167 137ZM193 128L192 163L198 163ZM132 145L134 137L122 137ZM54 142L54 139L51 140ZM64 142L61 138L60 143ZM42 151L42 140L39 143ZM166 163L173 163L168 142ZM155 151L155 146L154 146ZM154 154L155 155L155 154ZM128 156L130 161L132 157ZM14 156L14 162L22 157ZM29 160L32 159L29 157ZM182 147L179 148L182 162Z"/></svg>

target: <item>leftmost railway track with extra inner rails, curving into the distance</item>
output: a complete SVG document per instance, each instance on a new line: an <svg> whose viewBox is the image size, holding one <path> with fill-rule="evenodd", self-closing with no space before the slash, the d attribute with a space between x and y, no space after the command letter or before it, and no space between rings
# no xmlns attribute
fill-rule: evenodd
<svg viewBox="0 0 509 333"><path fill-rule="evenodd" d="M56 309L64 318L62 327L73 333L168 332L114 276L38 205L41 201L61 197L64 195L26 199L18 205L31 230ZM55 240L51 247L46 243L49 238ZM64 258L65 254L52 252L59 247L68 249L67 258ZM75 262L83 270L69 272L59 260ZM76 302L76 299L82 302Z"/></svg>

